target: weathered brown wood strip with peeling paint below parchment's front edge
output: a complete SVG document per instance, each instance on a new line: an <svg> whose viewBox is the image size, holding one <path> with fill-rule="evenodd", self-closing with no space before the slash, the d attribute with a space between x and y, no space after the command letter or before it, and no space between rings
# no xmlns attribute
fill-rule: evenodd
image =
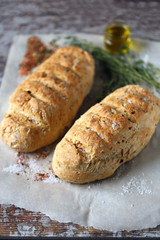
<svg viewBox="0 0 160 240"><path fill-rule="evenodd" d="M112 233L73 223L59 223L42 213L2 204L0 205L0 236L160 237L160 225L152 229Z"/></svg>

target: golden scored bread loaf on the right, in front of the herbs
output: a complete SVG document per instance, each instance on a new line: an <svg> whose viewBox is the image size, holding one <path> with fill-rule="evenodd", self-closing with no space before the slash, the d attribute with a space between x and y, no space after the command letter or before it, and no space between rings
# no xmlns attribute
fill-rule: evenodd
<svg viewBox="0 0 160 240"><path fill-rule="evenodd" d="M56 146L55 174L87 183L111 176L146 146L160 119L160 100L142 86L128 85L82 115Z"/></svg>

